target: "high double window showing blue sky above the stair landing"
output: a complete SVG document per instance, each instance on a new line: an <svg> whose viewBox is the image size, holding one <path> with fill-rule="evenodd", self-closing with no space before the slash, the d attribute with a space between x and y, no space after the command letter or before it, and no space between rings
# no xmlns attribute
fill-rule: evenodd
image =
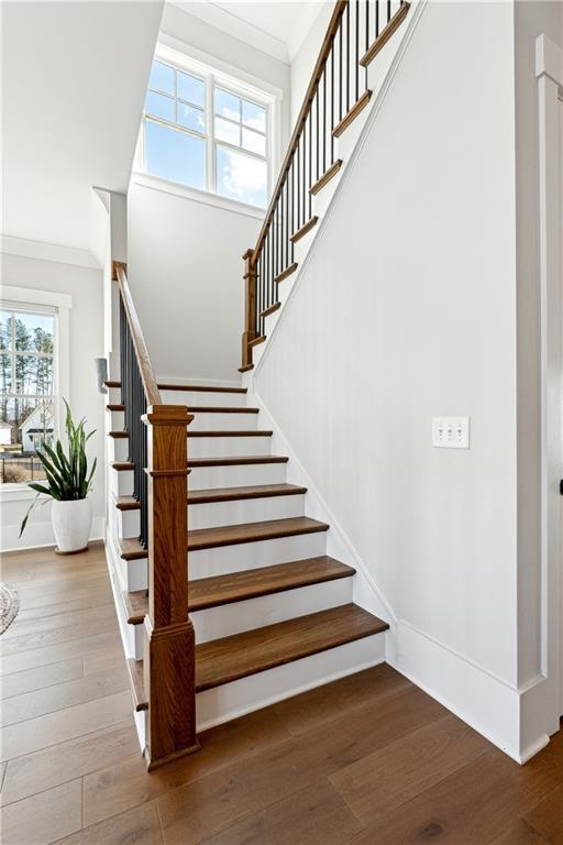
<svg viewBox="0 0 563 845"><path fill-rule="evenodd" d="M154 61L143 119L143 165L153 176L266 208L269 105L203 66Z"/></svg>

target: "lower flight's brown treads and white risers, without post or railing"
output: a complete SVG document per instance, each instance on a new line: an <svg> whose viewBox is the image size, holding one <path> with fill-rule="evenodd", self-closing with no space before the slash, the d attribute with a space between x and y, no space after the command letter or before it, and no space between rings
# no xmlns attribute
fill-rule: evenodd
<svg viewBox="0 0 563 845"><path fill-rule="evenodd" d="M307 490L286 482L288 459L272 453L272 431L260 428L258 409L247 407L245 388L159 388L164 400L185 403L194 415L187 429L186 508L198 724L209 726L379 662L383 649L373 639L388 625L352 603L354 569L325 555L330 526L306 515ZM139 634L148 612L147 552L137 539L141 504L132 495L133 467L118 398L107 406L115 459L112 503L120 529L119 581L125 585L122 617L135 632L129 661L135 709L143 711L148 701ZM322 659L310 659L322 652ZM276 670L288 665L295 671L286 668L277 678ZM266 671L256 698L255 677Z"/></svg>

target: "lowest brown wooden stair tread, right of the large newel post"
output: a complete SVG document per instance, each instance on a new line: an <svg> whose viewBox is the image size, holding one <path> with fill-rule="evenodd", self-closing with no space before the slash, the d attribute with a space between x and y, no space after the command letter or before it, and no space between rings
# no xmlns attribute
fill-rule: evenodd
<svg viewBox="0 0 563 845"><path fill-rule="evenodd" d="M196 646L196 691L202 692L299 660L389 626L355 604L266 625Z"/></svg>

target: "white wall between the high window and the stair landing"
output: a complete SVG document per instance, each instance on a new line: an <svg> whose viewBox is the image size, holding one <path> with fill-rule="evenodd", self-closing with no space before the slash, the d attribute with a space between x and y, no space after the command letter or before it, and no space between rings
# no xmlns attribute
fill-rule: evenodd
<svg viewBox="0 0 563 845"><path fill-rule="evenodd" d="M129 281L161 377L238 382L243 252L261 220L134 180L129 190Z"/></svg>

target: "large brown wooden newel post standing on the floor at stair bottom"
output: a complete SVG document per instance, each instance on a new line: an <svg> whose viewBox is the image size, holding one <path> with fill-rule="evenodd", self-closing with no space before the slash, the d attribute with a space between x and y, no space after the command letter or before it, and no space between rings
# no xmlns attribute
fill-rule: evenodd
<svg viewBox="0 0 563 845"><path fill-rule="evenodd" d="M188 618L185 406L151 405L148 441L148 613L144 678L148 768L199 748L195 636Z"/></svg>

